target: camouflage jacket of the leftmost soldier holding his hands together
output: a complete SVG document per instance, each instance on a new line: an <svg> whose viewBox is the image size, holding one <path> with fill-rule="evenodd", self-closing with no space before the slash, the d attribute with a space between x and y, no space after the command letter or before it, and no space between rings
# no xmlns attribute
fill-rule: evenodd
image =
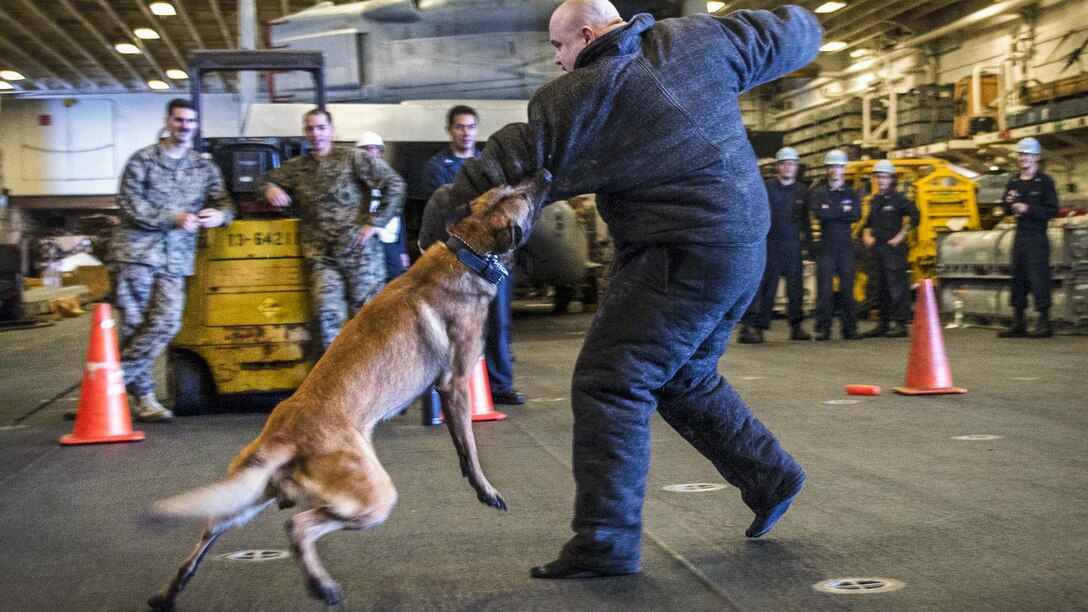
<svg viewBox="0 0 1088 612"><path fill-rule="evenodd" d="M174 216L218 208L224 224L234 219L219 167L193 150L178 160L168 158L159 144L128 159L118 208L121 223L113 230L107 261L164 267L186 277L193 274L197 234L178 228Z"/></svg>

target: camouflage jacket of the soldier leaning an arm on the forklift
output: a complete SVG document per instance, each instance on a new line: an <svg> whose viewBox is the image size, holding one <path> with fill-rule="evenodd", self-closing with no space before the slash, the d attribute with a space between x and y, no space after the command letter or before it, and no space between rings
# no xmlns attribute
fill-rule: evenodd
<svg viewBox="0 0 1088 612"><path fill-rule="evenodd" d="M301 220L306 257L338 257L354 249L359 228L383 228L399 217L405 182L388 163L361 149L334 148L324 159L296 157L265 174L258 193L287 192Z"/></svg>

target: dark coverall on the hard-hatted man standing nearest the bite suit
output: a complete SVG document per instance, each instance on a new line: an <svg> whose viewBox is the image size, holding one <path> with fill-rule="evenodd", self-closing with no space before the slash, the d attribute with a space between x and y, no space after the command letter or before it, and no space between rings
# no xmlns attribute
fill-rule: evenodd
<svg viewBox="0 0 1088 612"><path fill-rule="evenodd" d="M759 290L741 322L758 329L770 329L775 310L778 280L786 276L787 317L790 326L804 319L804 261L801 259L801 236L812 241L808 220L808 188L794 181L783 185L778 179L765 183L770 201L770 231L767 232L767 265Z"/></svg>

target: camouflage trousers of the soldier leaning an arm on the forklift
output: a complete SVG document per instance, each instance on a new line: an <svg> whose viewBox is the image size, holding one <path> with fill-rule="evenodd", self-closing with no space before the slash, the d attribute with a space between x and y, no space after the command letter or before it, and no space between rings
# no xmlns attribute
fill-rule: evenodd
<svg viewBox="0 0 1088 612"><path fill-rule="evenodd" d="M322 348L329 348L344 321L385 286L382 243L371 237L362 248L311 260L310 270L318 335Z"/></svg>

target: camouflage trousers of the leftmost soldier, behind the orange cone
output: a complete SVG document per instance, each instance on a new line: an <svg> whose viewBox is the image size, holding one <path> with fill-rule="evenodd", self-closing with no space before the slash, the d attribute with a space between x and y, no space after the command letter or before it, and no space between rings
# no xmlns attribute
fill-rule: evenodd
<svg viewBox="0 0 1088 612"><path fill-rule="evenodd" d="M110 265L119 311L121 368L132 393L154 393L151 366L177 334L185 307L185 277L139 264Z"/></svg>

